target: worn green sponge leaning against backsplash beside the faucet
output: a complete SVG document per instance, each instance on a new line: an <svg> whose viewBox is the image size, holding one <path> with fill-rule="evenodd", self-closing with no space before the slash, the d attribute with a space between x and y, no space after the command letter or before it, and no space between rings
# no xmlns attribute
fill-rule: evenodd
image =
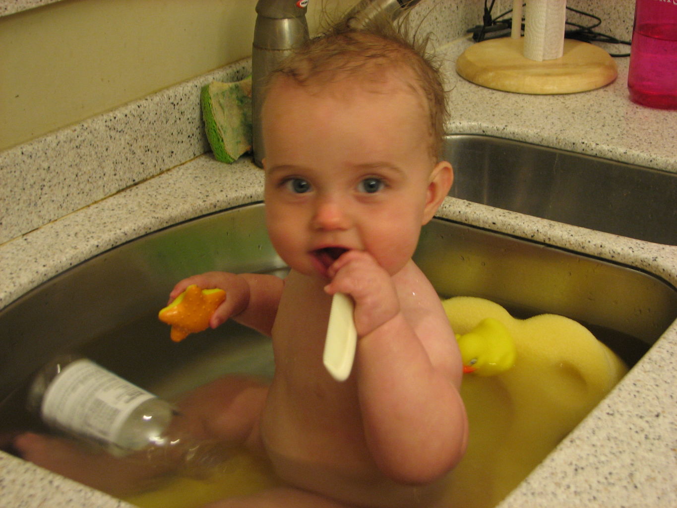
<svg viewBox="0 0 677 508"><path fill-rule="evenodd" d="M202 119L217 161L232 163L252 148L252 79L213 81L200 93Z"/></svg>

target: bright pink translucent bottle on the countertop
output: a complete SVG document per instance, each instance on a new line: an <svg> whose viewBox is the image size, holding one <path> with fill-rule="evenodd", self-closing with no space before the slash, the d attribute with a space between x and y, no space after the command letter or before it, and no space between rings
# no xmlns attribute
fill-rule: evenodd
<svg viewBox="0 0 677 508"><path fill-rule="evenodd" d="M628 90L643 106L677 109L677 0L636 0Z"/></svg>

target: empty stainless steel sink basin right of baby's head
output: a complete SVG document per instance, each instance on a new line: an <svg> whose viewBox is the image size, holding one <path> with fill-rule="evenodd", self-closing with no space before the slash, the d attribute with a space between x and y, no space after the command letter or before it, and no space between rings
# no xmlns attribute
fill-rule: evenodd
<svg viewBox="0 0 677 508"><path fill-rule="evenodd" d="M677 174L483 135L450 135L450 196L677 245Z"/></svg>

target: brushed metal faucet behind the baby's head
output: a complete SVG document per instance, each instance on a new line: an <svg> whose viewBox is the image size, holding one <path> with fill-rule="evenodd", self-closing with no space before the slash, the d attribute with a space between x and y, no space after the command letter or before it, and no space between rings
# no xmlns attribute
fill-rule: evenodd
<svg viewBox="0 0 677 508"><path fill-rule="evenodd" d="M420 0L362 0L351 10L348 24L366 26L376 16L397 18ZM261 98L269 72L295 47L308 39L305 20L308 0L259 0L252 47L252 145L254 162L263 165L265 147L261 133Z"/></svg>

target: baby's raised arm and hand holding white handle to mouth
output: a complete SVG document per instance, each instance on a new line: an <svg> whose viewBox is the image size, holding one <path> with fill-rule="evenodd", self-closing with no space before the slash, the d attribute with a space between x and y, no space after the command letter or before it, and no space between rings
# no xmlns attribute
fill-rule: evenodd
<svg viewBox="0 0 677 508"><path fill-rule="evenodd" d="M355 375L372 457L393 480L439 478L467 440L458 347L441 308L425 308L439 301L423 298L422 312L403 309L393 278L364 252L344 254L330 276L329 293L355 300Z"/></svg>

